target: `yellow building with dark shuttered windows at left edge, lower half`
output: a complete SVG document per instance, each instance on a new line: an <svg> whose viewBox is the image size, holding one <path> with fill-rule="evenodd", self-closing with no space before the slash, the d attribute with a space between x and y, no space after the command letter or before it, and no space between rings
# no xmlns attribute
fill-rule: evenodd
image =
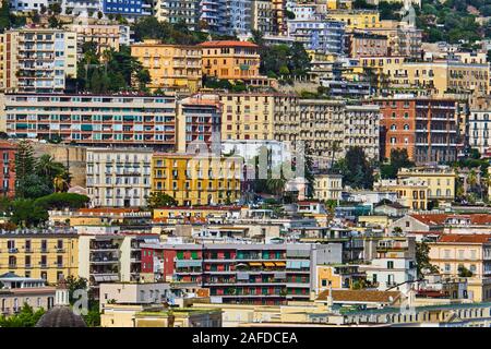
<svg viewBox="0 0 491 349"><path fill-rule="evenodd" d="M63 275L79 275L79 237L75 232L0 234L0 275L43 278L57 284Z"/></svg>

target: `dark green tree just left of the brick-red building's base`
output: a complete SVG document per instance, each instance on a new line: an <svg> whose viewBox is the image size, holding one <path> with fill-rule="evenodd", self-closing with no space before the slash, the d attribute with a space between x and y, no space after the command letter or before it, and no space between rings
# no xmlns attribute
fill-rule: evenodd
<svg viewBox="0 0 491 349"><path fill-rule="evenodd" d="M344 182L351 188L371 189L373 186L373 168L359 146L349 148L345 158L335 164L334 169L343 174Z"/></svg>

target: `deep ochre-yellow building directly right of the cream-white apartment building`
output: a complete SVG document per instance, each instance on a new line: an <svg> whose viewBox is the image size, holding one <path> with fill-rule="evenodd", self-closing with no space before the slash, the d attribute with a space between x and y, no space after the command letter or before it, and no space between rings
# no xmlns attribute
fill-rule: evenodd
<svg viewBox="0 0 491 349"><path fill-rule="evenodd" d="M152 192L179 205L230 204L240 198L241 158L191 154L154 154Z"/></svg>

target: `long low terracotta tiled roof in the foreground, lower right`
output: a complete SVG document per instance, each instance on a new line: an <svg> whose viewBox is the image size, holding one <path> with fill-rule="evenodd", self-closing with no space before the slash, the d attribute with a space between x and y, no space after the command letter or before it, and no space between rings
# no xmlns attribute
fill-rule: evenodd
<svg viewBox="0 0 491 349"><path fill-rule="evenodd" d="M327 300L330 290L321 292L318 300ZM360 302L360 303L394 303L400 298L399 291L374 291L374 290L333 290L335 302Z"/></svg>

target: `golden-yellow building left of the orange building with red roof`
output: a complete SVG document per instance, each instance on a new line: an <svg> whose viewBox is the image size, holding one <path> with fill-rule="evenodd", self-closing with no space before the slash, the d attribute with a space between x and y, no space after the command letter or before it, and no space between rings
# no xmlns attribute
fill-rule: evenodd
<svg viewBox="0 0 491 349"><path fill-rule="evenodd" d="M131 56L148 70L149 88L196 92L201 87L202 59L199 46L165 45L144 40L131 46Z"/></svg>

